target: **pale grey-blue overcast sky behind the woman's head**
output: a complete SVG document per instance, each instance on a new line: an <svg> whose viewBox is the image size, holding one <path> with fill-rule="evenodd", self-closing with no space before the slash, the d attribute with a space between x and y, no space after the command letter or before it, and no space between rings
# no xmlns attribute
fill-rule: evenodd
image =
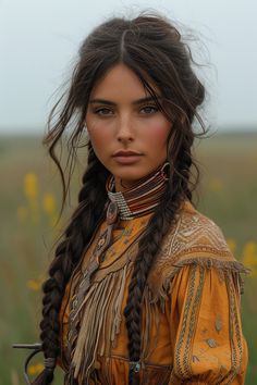
<svg viewBox="0 0 257 385"><path fill-rule="evenodd" d="M44 132L83 38L109 16L144 9L193 28L207 46L209 55L195 51L208 64L212 126L257 131L256 0L0 0L0 133Z"/></svg>

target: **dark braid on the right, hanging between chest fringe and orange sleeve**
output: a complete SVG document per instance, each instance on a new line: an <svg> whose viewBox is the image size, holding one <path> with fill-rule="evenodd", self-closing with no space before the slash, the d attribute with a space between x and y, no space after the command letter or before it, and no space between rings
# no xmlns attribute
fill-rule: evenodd
<svg viewBox="0 0 257 385"><path fill-rule="evenodd" d="M156 213L149 221L146 233L139 241L138 253L134 264L133 276L128 287L127 303L124 309L126 328L128 334L130 361L136 362L140 358L140 321L142 300L150 268L154 264L163 236L175 220L175 213L181 203L181 191L176 175L173 175L173 183L169 186ZM171 179L170 179L171 181ZM133 369L130 369L128 384L137 385L139 378Z"/></svg>

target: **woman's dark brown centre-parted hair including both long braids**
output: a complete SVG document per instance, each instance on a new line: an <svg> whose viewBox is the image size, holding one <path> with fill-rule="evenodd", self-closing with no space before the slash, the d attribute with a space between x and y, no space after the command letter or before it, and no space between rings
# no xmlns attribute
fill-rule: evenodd
<svg viewBox="0 0 257 385"><path fill-rule="evenodd" d="M79 59L74 69L68 95L53 108L49 120L49 133L45 144L59 167L63 185L63 204L69 182L56 153L57 145L64 133L72 128L69 139L70 159L84 137L84 123L90 92L96 83L114 65L123 63L139 78L146 90L154 96L158 107L171 122L168 140L169 182L160 204L157 207L145 234L139 241L124 311L128 333L130 361L140 357L142 298L150 268L160 248L161 240L185 199L192 200L196 181L192 179L192 145L196 136L205 133L197 107L204 101L205 89L192 69L192 54L179 30L163 16L140 14L136 18L112 18L98 26L85 39L79 49ZM151 85L158 87L161 98ZM61 105L61 111L58 108ZM52 121L57 116L53 124ZM194 133L193 122L198 121L201 134ZM56 249L49 269L49 278L44 284L42 321L40 323L45 358L60 353L59 311L65 285L83 256L83 250L102 219L107 201L106 179L108 170L99 162L90 142L88 165L83 176L78 206L74 211L63 238ZM198 175L195 173L195 175ZM46 369L35 384L50 384L53 370ZM130 384L138 383L130 371Z"/></svg>

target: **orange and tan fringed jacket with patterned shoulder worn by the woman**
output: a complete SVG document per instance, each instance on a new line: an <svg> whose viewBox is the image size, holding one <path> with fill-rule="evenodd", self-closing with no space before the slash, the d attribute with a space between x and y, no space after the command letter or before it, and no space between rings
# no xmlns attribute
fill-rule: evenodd
<svg viewBox="0 0 257 385"><path fill-rule="evenodd" d="M88 290L79 295L96 239L107 226L102 223L66 286L59 360L66 384L71 370L79 385L127 384L123 311L138 239L149 218L120 222ZM163 239L144 291L140 384L244 384L247 347L240 296L245 272L219 227L185 203Z"/></svg>

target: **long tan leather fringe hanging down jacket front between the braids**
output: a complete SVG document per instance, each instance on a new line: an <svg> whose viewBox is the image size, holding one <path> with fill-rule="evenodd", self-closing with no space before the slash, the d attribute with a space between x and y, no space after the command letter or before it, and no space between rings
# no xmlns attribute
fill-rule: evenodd
<svg viewBox="0 0 257 385"><path fill-rule="evenodd" d="M115 347L117 335L121 326L121 307L124 296L127 264L123 269L108 274L101 282L93 284L83 302L85 311L81 320L72 368L78 383L89 383L95 369L97 352L99 356Z"/></svg>

